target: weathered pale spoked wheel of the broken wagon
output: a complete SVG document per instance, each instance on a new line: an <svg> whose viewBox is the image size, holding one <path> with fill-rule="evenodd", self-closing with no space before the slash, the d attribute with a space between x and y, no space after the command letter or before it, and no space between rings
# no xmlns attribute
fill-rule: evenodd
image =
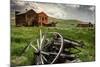
<svg viewBox="0 0 100 67"><path fill-rule="evenodd" d="M51 39L47 38L48 34L53 35L53 37L51 37ZM59 36L59 46L54 44L54 35ZM33 43L34 42L31 41L25 51L27 51L30 46L35 50L36 65L53 64L56 62L63 49L63 37L58 32L50 32L43 35L40 30L40 38L37 39L37 46L32 45Z"/></svg>

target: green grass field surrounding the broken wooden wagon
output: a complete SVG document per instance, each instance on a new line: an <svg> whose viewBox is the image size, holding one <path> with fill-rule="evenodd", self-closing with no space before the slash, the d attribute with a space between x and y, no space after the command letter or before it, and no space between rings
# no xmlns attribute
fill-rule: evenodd
<svg viewBox="0 0 100 67"><path fill-rule="evenodd" d="M68 22L68 23L67 23ZM11 27L11 64L14 65L32 65L34 64L34 50L30 48L21 56L24 47L31 40L39 37L39 30L43 32L59 32L64 38L70 38L85 43L84 49L77 55L82 62L95 60L95 29L94 28L78 28L76 21L59 21L56 27ZM71 23L72 22L72 23ZM36 45L34 43L34 45Z"/></svg>

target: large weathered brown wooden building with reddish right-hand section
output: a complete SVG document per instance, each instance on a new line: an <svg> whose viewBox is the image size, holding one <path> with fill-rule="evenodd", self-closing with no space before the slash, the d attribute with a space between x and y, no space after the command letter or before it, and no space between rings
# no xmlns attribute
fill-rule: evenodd
<svg viewBox="0 0 100 67"><path fill-rule="evenodd" d="M16 26L53 26L48 22L48 15L44 12L36 13L33 9L15 12Z"/></svg>

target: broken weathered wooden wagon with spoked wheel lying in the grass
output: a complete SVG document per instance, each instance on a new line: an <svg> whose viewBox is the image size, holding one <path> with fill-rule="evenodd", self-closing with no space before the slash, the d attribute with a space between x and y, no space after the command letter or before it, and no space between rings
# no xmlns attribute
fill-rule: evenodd
<svg viewBox="0 0 100 67"><path fill-rule="evenodd" d="M83 41L75 41L63 36L58 32L42 33L36 40L37 45L34 46L31 41L25 48L24 52L33 48L35 54L35 65L41 64L56 64L56 63L74 63L81 60L75 55L81 50L78 49L84 46ZM76 49L77 52L71 52L71 48Z"/></svg>

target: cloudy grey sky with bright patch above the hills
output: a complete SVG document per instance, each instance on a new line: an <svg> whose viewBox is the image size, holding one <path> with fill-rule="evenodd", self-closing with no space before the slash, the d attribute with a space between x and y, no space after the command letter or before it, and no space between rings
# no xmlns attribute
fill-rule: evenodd
<svg viewBox="0 0 100 67"><path fill-rule="evenodd" d="M93 5L11 0L11 11L25 11L25 9L34 9L38 13L43 11L54 18L95 23L95 6Z"/></svg>

